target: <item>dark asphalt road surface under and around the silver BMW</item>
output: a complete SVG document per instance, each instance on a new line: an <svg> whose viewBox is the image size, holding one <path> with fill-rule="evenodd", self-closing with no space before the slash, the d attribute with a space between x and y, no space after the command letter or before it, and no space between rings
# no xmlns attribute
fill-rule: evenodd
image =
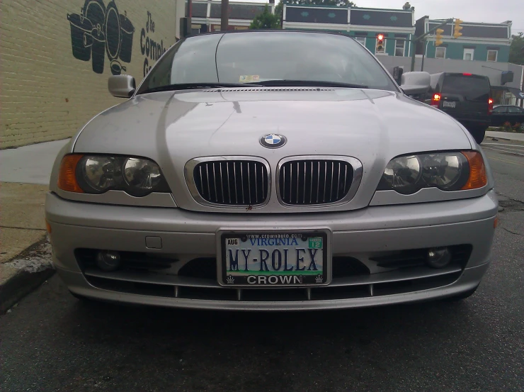
<svg viewBox="0 0 524 392"><path fill-rule="evenodd" d="M524 391L523 145L484 142L501 224L465 301L172 310L82 303L54 276L0 316L0 390Z"/></svg>

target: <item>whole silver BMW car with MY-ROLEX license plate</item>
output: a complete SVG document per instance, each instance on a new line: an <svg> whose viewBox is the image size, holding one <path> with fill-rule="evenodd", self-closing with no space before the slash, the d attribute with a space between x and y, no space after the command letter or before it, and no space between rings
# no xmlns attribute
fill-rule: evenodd
<svg viewBox="0 0 524 392"><path fill-rule="evenodd" d="M466 298L498 202L467 130L344 35L183 39L59 153L45 211L79 298L312 310Z"/></svg>

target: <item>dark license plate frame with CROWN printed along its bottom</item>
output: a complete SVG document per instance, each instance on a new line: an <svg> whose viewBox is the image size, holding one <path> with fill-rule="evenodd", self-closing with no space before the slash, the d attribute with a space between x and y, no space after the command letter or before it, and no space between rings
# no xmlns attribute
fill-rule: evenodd
<svg viewBox="0 0 524 392"><path fill-rule="evenodd" d="M242 274L243 276L235 275L233 276L233 280L229 279L228 271L227 271L227 247L226 247L226 240L228 239L234 239L234 238L244 238L246 239L249 235L302 235L302 237L306 237L307 241L302 240L302 238L297 239L297 241L302 241L305 244L305 247L307 250L305 253L309 255L309 238L321 238L322 240L322 271L321 274L313 274L307 273L307 275L303 274L292 274L292 276L302 276L302 283L298 283L297 279L292 278L290 283L283 283L281 280L277 281L275 283L275 279L272 281L270 280L270 276L275 276L271 274L266 274L268 276L268 282L266 284L259 284L258 278L256 278L256 282L253 283L253 279L249 280L249 276L259 276L261 274ZM315 245L313 245L315 246ZM257 245L252 246L252 249L260 250L261 248ZM314 248L311 248L312 251ZM296 250L296 248L294 248ZM314 229L303 229L303 228L297 228L297 229L286 229L286 230L245 230L245 229L221 229L217 231L217 281L220 286L226 286L229 288L256 288L256 289L280 289L280 288L288 288L288 287L319 287L319 286L327 286L331 284L332 279L332 269L331 269L331 260L332 260L332 254L331 254L331 230L327 228L314 228ZM244 262L241 262L241 259L244 260L244 257L242 256L242 252L239 252L239 267L244 267ZM268 259L268 263L270 264L271 258ZM296 262L296 260L294 261ZM305 267L307 269L307 264L310 263L311 260L308 259L304 262ZM250 269L251 271L251 269ZM244 271L242 271L244 272ZM254 271L257 272L257 271ZM287 274L286 274L287 275ZM279 275L280 276L280 275ZM319 281L319 276L321 276L321 281ZM280 278L277 278L280 279ZM249 280L249 282L248 282Z"/></svg>

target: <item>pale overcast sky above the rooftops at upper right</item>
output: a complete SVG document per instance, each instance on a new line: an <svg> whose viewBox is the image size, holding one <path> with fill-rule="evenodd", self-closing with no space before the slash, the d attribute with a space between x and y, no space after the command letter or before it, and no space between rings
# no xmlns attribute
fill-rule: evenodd
<svg viewBox="0 0 524 392"><path fill-rule="evenodd" d="M234 0L232 0L234 1ZM237 0L238 1L238 0ZM241 0L242 1L242 0ZM260 1L267 0L245 0ZM278 4L279 0L275 0ZM406 0L353 0L359 7L401 9ZM413 0L415 19L460 18L466 22L501 23L513 21L511 33L524 31L524 0Z"/></svg>

